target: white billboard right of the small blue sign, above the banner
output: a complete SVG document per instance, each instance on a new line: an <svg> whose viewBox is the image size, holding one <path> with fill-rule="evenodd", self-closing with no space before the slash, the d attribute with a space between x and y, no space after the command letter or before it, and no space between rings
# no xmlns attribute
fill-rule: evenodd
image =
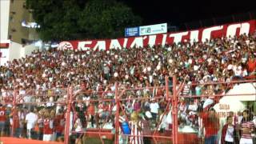
<svg viewBox="0 0 256 144"><path fill-rule="evenodd" d="M150 26L139 26L139 35L167 33L167 23Z"/></svg>

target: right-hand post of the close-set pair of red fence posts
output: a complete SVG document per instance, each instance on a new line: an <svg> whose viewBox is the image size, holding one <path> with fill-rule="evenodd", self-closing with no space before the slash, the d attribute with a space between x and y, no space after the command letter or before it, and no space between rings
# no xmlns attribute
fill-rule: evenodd
<svg viewBox="0 0 256 144"><path fill-rule="evenodd" d="M172 101L172 115L173 115L173 125L172 125L172 134L173 134L173 143L178 144L178 99L176 93L176 83L177 79L173 77L173 101Z"/></svg>

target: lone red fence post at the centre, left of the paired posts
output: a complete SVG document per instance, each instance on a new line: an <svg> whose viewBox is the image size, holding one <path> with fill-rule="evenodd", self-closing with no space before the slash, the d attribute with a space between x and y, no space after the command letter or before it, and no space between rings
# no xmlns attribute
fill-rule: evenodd
<svg viewBox="0 0 256 144"><path fill-rule="evenodd" d="M115 98L115 103L117 105L117 111L115 113L115 139L114 143L118 144L119 143L119 97L118 97L118 83L114 83L115 91L114 91L114 98Z"/></svg>

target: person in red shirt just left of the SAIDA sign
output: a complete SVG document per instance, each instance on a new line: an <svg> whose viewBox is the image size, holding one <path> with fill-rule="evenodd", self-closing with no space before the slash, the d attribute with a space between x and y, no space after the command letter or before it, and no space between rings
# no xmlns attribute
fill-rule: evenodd
<svg viewBox="0 0 256 144"><path fill-rule="evenodd" d="M214 108L202 114L202 124L205 127L205 144L218 143L219 118Z"/></svg>

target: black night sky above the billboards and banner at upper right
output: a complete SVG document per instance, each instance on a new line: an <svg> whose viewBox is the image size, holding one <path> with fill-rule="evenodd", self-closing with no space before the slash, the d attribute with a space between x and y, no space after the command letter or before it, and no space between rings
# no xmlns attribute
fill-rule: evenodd
<svg viewBox="0 0 256 144"><path fill-rule="evenodd" d="M256 10L254 1L226 2L215 1L187 1L187 0L120 0L132 7L135 14L143 18L143 25L168 22L178 26L184 22L194 22L208 18L218 18L231 14L246 13ZM171 2L174 2L171 4Z"/></svg>

